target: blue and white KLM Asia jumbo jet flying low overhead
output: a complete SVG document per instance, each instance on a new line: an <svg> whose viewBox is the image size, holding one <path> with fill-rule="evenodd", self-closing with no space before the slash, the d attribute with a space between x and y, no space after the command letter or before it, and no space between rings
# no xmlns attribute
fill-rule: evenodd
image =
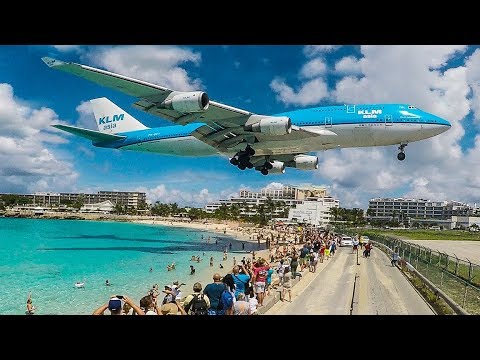
<svg viewBox="0 0 480 360"><path fill-rule="evenodd" d="M451 124L409 104L312 107L273 115L216 101L204 91L182 92L106 70L50 57L42 60L98 85L137 98L133 107L173 122L148 128L106 98L91 100L99 131L68 125L58 129L92 140L97 147L179 156L228 156L240 170L263 175L286 167L318 169L321 150L398 145L398 160L414 141L439 135Z"/></svg>

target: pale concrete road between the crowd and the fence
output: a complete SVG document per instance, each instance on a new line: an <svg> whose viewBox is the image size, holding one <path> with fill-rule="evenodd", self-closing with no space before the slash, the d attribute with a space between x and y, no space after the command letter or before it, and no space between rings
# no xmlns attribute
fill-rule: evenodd
<svg viewBox="0 0 480 360"><path fill-rule="evenodd" d="M374 248L370 258L339 248L335 256L292 302L278 302L267 315L433 315L389 257ZM297 284L292 290L299 286Z"/></svg>

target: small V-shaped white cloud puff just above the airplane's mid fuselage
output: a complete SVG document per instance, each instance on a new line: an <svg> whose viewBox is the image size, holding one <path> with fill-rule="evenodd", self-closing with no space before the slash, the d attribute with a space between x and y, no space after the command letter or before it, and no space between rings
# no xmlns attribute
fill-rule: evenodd
<svg viewBox="0 0 480 360"><path fill-rule="evenodd" d="M297 92L285 83L282 78L275 78L270 88L277 94L277 100L284 104L312 105L327 97L327 84L320 78L304 83Z"/></svg>

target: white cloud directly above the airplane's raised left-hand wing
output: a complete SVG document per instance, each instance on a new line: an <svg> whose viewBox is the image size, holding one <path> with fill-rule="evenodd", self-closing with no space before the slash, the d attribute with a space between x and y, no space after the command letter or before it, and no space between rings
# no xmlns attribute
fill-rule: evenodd
<svg viewBox="0 0 480 360"><path fill-rule="evenodd" d="M173 90L201 89L200 79L191 79L181 67L185 63L198 65L200 53L171 45L127 45L95 48L84 57L94 65L109 71L155 83Z"/></svg>

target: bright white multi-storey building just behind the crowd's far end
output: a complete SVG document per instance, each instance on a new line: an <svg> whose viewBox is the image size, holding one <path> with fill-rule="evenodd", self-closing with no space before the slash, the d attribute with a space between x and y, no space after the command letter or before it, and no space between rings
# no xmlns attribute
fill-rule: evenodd
<svg viewBox="0 0 480 360"><path fill-rule="evenodd" d="M305 200L302 204L298 204L295 209L290 209L288 220L325 226L330 223L330 209L332 207L340 207L339 201L332 197Z"/></svg>

